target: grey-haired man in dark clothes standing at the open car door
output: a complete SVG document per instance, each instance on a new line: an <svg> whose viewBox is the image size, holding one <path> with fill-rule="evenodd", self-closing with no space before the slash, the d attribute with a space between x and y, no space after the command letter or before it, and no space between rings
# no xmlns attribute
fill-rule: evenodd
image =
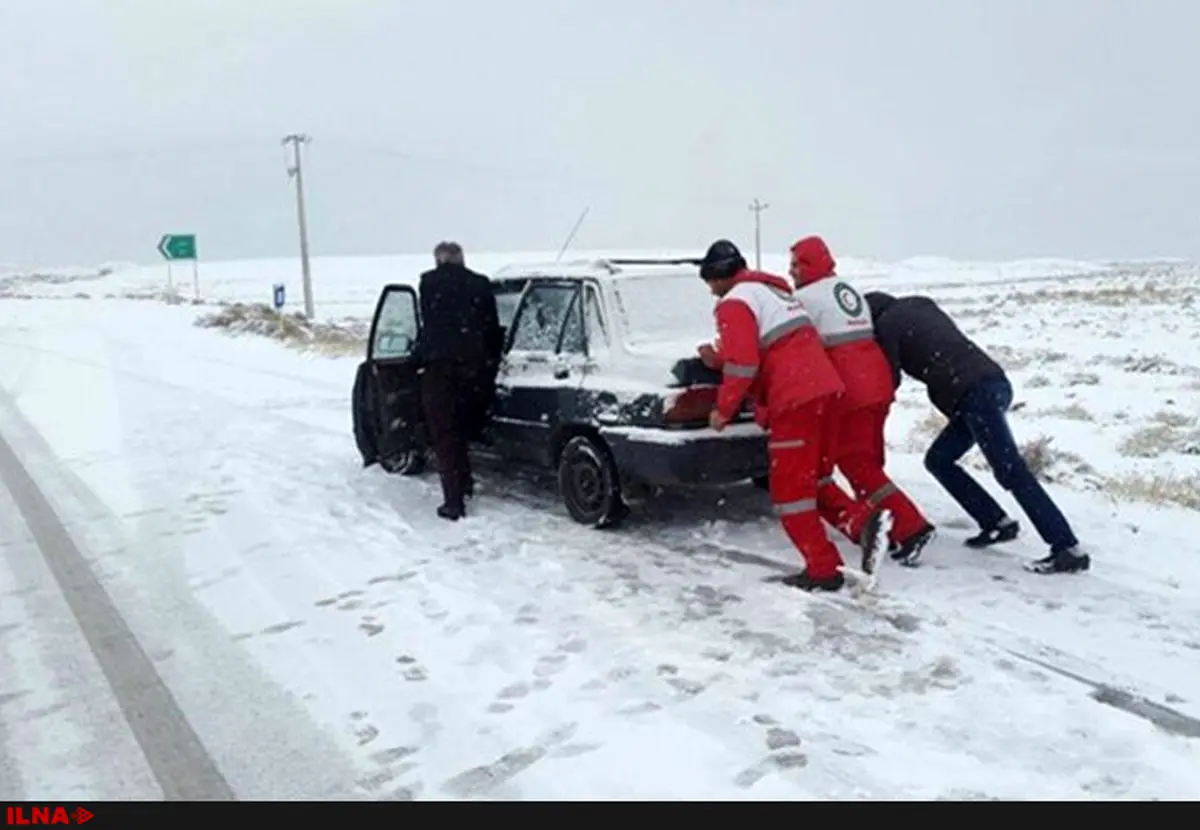
<svg viewBox="0 0 1200 830"><path fill-rule="evenodd" d="M457 242L433 249L421 275L421 404L442 477L438 516L466 516L475 485L468 441L481 437L496 391L503 332L487 277L467 267Z"/></svg>

